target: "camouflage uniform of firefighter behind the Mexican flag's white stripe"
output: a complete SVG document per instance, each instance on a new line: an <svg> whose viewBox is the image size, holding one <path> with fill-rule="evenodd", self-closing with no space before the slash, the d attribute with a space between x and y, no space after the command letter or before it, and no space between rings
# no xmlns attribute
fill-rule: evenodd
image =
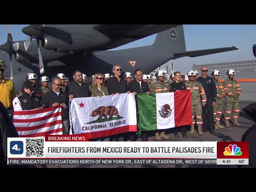
<svg viewBox="0 0 256 192"><path fill-rule="evenodd" d="M149 90L150 93L168 93L169 92L169 85L166 82L163 82L162 84L158 83L158 80L154 83L151 83L149 85ZM156 130L155 132L156 140L161 140L161 138L164 139L169 139L164 130L160 130L160 135L159 135L159 130Z"/></svg>

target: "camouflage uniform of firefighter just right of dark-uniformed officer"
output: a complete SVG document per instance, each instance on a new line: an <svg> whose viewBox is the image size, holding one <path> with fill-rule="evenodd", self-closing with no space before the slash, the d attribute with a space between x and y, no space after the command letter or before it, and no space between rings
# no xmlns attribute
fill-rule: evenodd
<svg viewBox="0 0 256 192"><path fill-rule="evenodd" d="M225 92L224 92L224 87L220 81L214 80L214 82L217 89L217 99L216 99L216 106L213 107L213 115L214 115L214 120L219 122L222 114L222 99L220 99L220 96L222 94L225 95ZM220 126L220 128L224 128L224 127Z"/></svg>

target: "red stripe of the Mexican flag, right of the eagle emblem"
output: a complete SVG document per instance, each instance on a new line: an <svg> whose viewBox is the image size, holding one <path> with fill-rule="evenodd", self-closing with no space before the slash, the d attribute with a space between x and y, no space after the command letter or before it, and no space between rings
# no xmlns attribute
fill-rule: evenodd
<svg viewBox="0 0 256 192"><path fill-rule="evenodd" d="M175 127L192 124L190 90L174 92L174 120Z"/></svg>

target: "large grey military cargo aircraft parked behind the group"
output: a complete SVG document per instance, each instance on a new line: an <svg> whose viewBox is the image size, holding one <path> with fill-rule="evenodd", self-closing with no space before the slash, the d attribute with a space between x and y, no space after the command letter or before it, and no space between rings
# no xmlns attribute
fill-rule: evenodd
<svg viewBox="0 0 256 192"><path fill-rule="evenodd" d="M112 66L119 64L122 73L133 74L139 68L147 74L169 60L238 49L186 51L183 25L29 25L22 32L30 37L14 42L8 27L8 40L0 45L0 59L10 61L6 74L13 78L16 89L30 72L48 77L61 72L72 79L74 69L87 76L112 74ZM110 50L156 33L152 45Z"/></svg>

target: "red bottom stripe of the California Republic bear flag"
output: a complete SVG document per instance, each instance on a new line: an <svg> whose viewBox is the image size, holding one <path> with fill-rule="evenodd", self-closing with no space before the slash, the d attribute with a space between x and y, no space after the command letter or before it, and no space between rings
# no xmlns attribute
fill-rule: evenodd
<svg viewBox="0 0 256 192"><path fill-rule="evenodd" d="M137 125L126 125L123 127L118 127L118 128L114 128L114 129L110 129L110 130L82 133L82 134L76 134L76 135L86 135L89 137L89 139L93 139L93 138L107 137L107 136L130 132L130 131L136 132Z"/></svg>

